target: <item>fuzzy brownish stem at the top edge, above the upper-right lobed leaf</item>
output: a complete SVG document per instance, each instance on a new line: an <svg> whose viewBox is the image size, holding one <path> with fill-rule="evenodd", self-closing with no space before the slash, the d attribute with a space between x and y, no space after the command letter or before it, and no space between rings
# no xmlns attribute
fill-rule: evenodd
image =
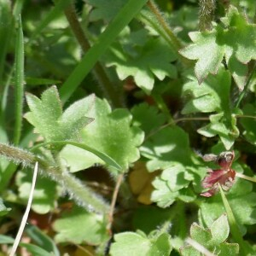
<svg viewBox="0 0 256 256"><path fill-rule="evenodd" d="M199 29L201 31L212 28L215 0L199 0Z"/></svg>

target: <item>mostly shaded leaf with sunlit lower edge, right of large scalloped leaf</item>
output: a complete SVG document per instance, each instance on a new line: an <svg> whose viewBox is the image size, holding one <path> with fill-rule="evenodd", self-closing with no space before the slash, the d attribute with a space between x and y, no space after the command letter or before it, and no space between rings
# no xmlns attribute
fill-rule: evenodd
<svg viewBox="0 0 256 256"><path fill-rule="evenodd" d="M176 163L185 166L191 162L188 134L177 126L154 133L143 143L141 153L149 159L149 172L166 169Z"/></svg>

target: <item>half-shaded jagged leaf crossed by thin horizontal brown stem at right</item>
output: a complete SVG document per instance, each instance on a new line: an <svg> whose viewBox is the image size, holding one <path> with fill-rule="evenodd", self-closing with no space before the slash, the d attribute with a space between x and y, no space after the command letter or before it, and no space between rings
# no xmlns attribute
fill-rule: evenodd
<svg viewBox="0 0 256 256"><path fill-rule="evenodd" d="M239 136L236 116L230 107L230 73L221 65L218 74L208 76L201 86L198 86L194 76L190 75L189 79L183 87L183 96L188 98L188 102L182 113L212 113L211 123L197 131L205 137L218 135L229 150Z"/></svg>

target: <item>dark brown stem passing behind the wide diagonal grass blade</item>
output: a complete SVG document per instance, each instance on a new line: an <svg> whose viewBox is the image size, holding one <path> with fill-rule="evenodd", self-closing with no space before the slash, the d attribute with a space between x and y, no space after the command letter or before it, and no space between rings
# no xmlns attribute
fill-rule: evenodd
<svg viewBox="0 0 256 256"><path fill-rule="evenodd" d="M79 23L73 4L70 4L64 12L75 38L77 38L81 48L83 49L84 53L86 53L90 49L90 43ZM92 73L94 74L98 83L101 85L105 96L110 102L112 102L113 107L123 107L124 101L121 90L117 90L116 86L114 86L113 83L108 79L108 75L99 61L96 62Z"/></svg>

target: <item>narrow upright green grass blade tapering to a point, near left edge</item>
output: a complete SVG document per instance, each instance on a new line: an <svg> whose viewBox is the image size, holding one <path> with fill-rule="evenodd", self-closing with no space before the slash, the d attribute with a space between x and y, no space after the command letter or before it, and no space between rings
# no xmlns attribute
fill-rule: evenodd
<svg viewBox="0 0 256 256"><path fill-rule="evenodd" d="M21 17L18 20L18 29L15 45L15 134L14 143L20 143L22 126L22 108L24 95L24 40Z"/></svg>

